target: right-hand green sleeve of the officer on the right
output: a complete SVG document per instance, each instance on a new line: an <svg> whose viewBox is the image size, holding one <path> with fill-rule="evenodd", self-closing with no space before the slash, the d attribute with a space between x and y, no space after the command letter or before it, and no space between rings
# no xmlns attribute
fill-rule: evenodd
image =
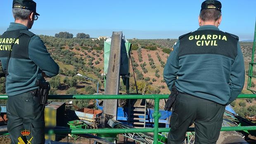
<svg viewBox="0 0 256 144"><path fill-rule="evenodd" d="M240 92L242 92L244 87L244 73L244 58L239 42L237 42L237 57L231 66L229 80L230 98L228 104L233 102Z"/></svg>

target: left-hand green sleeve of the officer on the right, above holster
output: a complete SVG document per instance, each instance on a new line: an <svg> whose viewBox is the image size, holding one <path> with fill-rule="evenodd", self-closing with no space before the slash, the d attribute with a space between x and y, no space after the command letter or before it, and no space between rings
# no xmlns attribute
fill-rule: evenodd
<svg viewBox="0 0 256 144"><path fill-rule="evenodd" d="M170 56L166 61L164 67L164 80L171 91L174 81L177 79L177 72L179 70L179 59L178 59L178 49L180 42L178 41L171 52Z"/></svg>

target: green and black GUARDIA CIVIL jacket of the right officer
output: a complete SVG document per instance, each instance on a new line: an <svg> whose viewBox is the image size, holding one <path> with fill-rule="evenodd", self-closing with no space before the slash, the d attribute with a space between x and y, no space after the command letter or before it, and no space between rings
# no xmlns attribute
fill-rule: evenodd
<svg viewBox="0 0 256 144"><path fill-rule="evenodd" d="M206 36L207 33L218 33L218 36L226 37L215 39L218 44L223 43L217 50L214 46L205 46L206 43L202 46L202 39L204 41L206 38L195 40L198 35L194 38L194 33L205 33ZM210 41L215 40L210 38ZM216 45L215 42L212 44ZM185 48L180 49L181 45ZM175 83L180 92L223 105L230 104L242 91L244 59L237 36L219 31L216 26L201 26L197 31L187 34L187 37L180 38L173 49L164 68L164 80L169 90ZM234 55L229 57L230 54Z"/></svg>

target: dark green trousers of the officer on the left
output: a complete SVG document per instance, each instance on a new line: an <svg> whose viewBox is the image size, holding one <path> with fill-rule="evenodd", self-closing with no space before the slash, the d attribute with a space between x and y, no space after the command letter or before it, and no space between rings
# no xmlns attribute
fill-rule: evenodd
<svg viewBox="0 0 256 144"><path fill-rule="evenodd" d="M8 96L7 101L7 129L12 144L22 140L25 144L45 143L45 121L43 105L33 100L32 92L15 96ZM29 131L29 135L22 135ZM22 133L22 134L21 134ZM28 133L27 133L28 134Z"/></svg>

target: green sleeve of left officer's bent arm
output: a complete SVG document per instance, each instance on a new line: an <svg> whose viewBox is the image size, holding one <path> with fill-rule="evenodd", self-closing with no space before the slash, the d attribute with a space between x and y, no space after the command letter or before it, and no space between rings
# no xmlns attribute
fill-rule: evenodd
<svg viewBox="0 0 256 144"><path fill-rule="evenodd" d="M47 76L53 77L59 73L58 64L56 64L52 59L43 43L43 40L41 40L37 35L33 36L28 44L28 57Z"/></svg>

